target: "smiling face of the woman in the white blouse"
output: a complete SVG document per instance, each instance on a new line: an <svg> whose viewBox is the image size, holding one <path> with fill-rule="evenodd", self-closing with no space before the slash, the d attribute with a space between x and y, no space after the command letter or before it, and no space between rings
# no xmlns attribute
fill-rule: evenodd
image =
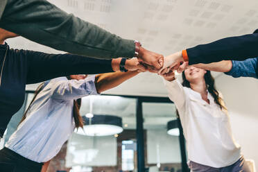
<svg viewBox="0 0 258 172"><path fill-rule="evenodd" d="M207 71L204 69L200 69L197 67L187 67L187 69L184 70L185 78L189 81L189 83L196 83L198 80L203 79Z"/></svg>

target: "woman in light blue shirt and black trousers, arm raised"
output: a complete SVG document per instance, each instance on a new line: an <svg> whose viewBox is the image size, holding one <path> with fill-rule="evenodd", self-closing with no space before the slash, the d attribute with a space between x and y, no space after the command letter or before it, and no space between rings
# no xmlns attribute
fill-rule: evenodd
<svg viewBox="0 0 258 172"><path fill-rule="evenodd" d="M137 60L137 59L132 59ZM10 172L41 171L75 128L83 128L80 98L99 94L136 76L138 71L71 75L42 83L6 147L0 150L0 169Z"/></svg>

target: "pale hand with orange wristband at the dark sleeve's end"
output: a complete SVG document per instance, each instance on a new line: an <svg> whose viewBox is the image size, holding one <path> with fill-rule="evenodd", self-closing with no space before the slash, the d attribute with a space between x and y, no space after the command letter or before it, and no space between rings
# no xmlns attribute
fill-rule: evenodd
<svg viewBox="0 0 258 172"><path fill-rule="evenodd" d="M184 59L182 58L181 51L168 55L164 58L164 65L158 74L166 74L171 70L175 71L180 67L180 65L182 65L183 62Z"/></svg>

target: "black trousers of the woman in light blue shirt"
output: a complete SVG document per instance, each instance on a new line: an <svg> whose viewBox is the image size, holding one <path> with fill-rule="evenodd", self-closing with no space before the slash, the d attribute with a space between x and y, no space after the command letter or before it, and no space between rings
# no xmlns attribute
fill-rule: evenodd
<svg viewBox="0 0 258 172"><path fill-rule="evenodd" d="M40 172L42 165L43 163L28 160L8 148L0 150L1 172Z"/></svg>

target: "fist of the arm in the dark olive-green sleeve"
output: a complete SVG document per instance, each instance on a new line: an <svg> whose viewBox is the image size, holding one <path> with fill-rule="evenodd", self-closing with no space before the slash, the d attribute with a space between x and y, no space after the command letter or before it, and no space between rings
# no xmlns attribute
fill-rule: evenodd
<svg viewBox="0 0 258 172"><path fill-rule="evenodd" d="M159 70L163 66L164 56L158 53L154 53L152 51L148 51L140 46L139 55L138 55L139 62L144 62L146 65L153 67L155 70Z"/></svg>

